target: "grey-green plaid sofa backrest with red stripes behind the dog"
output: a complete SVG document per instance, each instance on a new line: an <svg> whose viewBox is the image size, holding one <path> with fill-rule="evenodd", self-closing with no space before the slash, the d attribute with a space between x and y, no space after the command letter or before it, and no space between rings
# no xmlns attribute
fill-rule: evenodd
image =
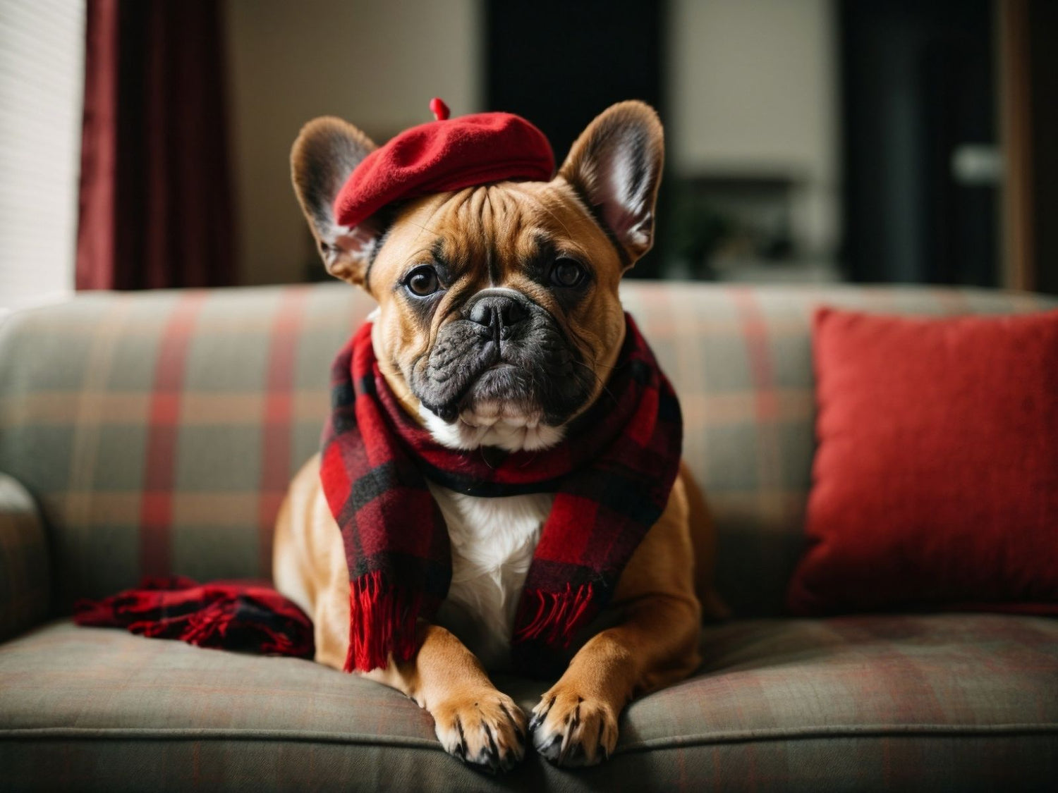
<svg viewBox="0 0 1058 793"><path fill-rule="evenodd" d="M980 290L624 285L676 385L685 457L742 615L779 614L813 456L814 307L929 314L1058 301ZM316 449L330 362L371 309L318 287L89 293L0 322L0 472L38 499L57 591L142 575L268 577L287 483Z"/></svg>

